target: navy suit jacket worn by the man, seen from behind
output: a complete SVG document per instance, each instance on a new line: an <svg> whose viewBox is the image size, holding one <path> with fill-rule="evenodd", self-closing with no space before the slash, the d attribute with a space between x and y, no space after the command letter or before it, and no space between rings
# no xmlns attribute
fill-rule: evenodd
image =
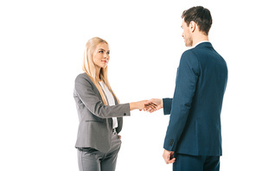
<svg viewBox="0 0 256 171"><path fill-rule="evenodd" d="M210 42L182 54L173 98L163 98L170 114L163 148L187 155L222 155L221 106L227 64Z"/></svg>

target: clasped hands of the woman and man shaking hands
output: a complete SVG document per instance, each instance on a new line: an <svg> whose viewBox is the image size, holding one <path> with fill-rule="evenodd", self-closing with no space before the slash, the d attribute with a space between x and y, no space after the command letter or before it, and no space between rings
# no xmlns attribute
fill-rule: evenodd
<svg viewBox="0 0 256 171"><path fill-rule="evenodd" d="M130 103L130 111L138 109L139 111L157 111L163 108L163 99L152 98L150 100L142 100Z"/></svg>

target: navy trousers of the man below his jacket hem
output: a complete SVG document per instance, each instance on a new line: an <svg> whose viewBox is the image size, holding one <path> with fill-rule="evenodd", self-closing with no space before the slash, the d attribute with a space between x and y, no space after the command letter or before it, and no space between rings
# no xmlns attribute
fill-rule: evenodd
<svg viewBox="0 0 256 171"><path fill-rule="evenodd" d="M219 171L220 156L176 154L173 171Z"/></svg>

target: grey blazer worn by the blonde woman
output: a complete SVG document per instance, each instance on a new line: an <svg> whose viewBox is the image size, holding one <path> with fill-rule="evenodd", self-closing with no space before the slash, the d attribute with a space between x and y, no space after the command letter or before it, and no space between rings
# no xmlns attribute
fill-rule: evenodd
<svg viewBox="0 0 256 171"><path fill-rule="evenodd" d="M123 117L131 115L130 104L118 104L116 98L116 105L103 104L98 89L86 73L80 73L75 79L74 100L80 122L75 147L107 152L112 142L112 117L118 117L119 133Z"/></svg>

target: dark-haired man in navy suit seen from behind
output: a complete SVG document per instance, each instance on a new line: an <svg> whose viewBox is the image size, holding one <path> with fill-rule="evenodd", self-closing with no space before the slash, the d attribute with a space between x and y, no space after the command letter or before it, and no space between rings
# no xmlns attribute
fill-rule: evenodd
<svg viewBox="0 0 256 171"><path fill-rule="evenodd" d="M150 99L170 123L163 159L173 170L219 170L221 106L227 85L227 64L208 41L212 17L208 9L193 7L182 13L186 47L176 74L173 98ZM156 110L147 110L156 111ZM173 158L175 157L175 158Z"/></svg>

